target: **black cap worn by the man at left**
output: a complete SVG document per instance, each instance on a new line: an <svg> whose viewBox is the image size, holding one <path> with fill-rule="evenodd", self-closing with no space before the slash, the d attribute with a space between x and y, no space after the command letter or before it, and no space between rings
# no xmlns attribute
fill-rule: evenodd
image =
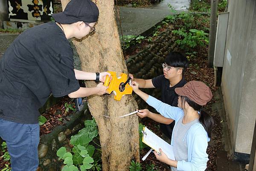
<svg viewBox="0 0 256 171"><path fill-rule="evenodd" d="M99 9L91 0L70 0L64 12L52 14L52 17L61 24L71 24L78 21L94 23L98 20Z"/></svg>

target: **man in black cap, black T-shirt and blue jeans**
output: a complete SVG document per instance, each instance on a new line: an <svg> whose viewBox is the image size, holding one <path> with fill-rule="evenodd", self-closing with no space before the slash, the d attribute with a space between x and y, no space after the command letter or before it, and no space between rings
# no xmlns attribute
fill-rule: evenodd
<svg viewBox="0 0 256 171"><path fill-rule="evenodd" d="M49 95L70 98L102 95L107 87L84 88L78 80L104 82L108 72L74 69L69 38L95 31L99 10L91 0L71 0L64 12L20 34L0 60L0 136L6 141L12 171L38 168L38 109Z"/></svg>

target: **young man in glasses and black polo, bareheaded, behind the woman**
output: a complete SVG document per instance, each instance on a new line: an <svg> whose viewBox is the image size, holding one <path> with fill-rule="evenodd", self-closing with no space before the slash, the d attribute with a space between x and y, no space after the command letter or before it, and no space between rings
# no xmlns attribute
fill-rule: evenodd
<svg viewBox="0 0 256 171"><path fill-rule="evenodd" d="M139 83L140 88L159 88L161 89L161 101L166 104L177 107L178 95L175 93L175 88L183 87L186 84L185 78L183 78L185 69L189 66L188 60L180 52L171 52L166 58L163 66L163 75L159 75L155 78L144 80L134 78L132 74L130 77ZM172 130L175 125L175 121L169 119L168 125L160 124L161 132L169 139L172 137Z"/></svg>

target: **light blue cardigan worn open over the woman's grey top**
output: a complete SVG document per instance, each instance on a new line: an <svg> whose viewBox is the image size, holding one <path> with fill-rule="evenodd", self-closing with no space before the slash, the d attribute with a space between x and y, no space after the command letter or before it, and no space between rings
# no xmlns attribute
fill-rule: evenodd
<svg viewBox="0 0 256 171"><path fill-rule="evenodd" d="M183 109L179 107L172 107L152 96L149 96L146 102L150 106L154 107L161 115L166 118L173 119L175 122L184 116ZM174 138L175 137L172 137L172 139ZM186 133L186 136L183 138L183 141L185 140L188 146L188 162L184 160L178 161L177 170L205 171L208 161L208 154L206 153L206 150L210 139L203 125L201 125L201 123L195 123L192 125ZM171 142L171 145L173 145L173 141Z"/></svg>

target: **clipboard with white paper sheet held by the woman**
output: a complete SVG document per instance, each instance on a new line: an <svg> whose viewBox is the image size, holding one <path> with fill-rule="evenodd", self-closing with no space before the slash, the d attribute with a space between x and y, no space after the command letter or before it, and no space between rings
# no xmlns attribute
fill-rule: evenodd
<svg viewBox="0 0 256 171"><path fill-rule="evenodd" d="M167 155L169 159L175 160L173 146L168 142L161 139L159 136L154 134L147 127L143 128L143 137L142 142L154 149L157 153L159 153L159 148Z"/></svg>

